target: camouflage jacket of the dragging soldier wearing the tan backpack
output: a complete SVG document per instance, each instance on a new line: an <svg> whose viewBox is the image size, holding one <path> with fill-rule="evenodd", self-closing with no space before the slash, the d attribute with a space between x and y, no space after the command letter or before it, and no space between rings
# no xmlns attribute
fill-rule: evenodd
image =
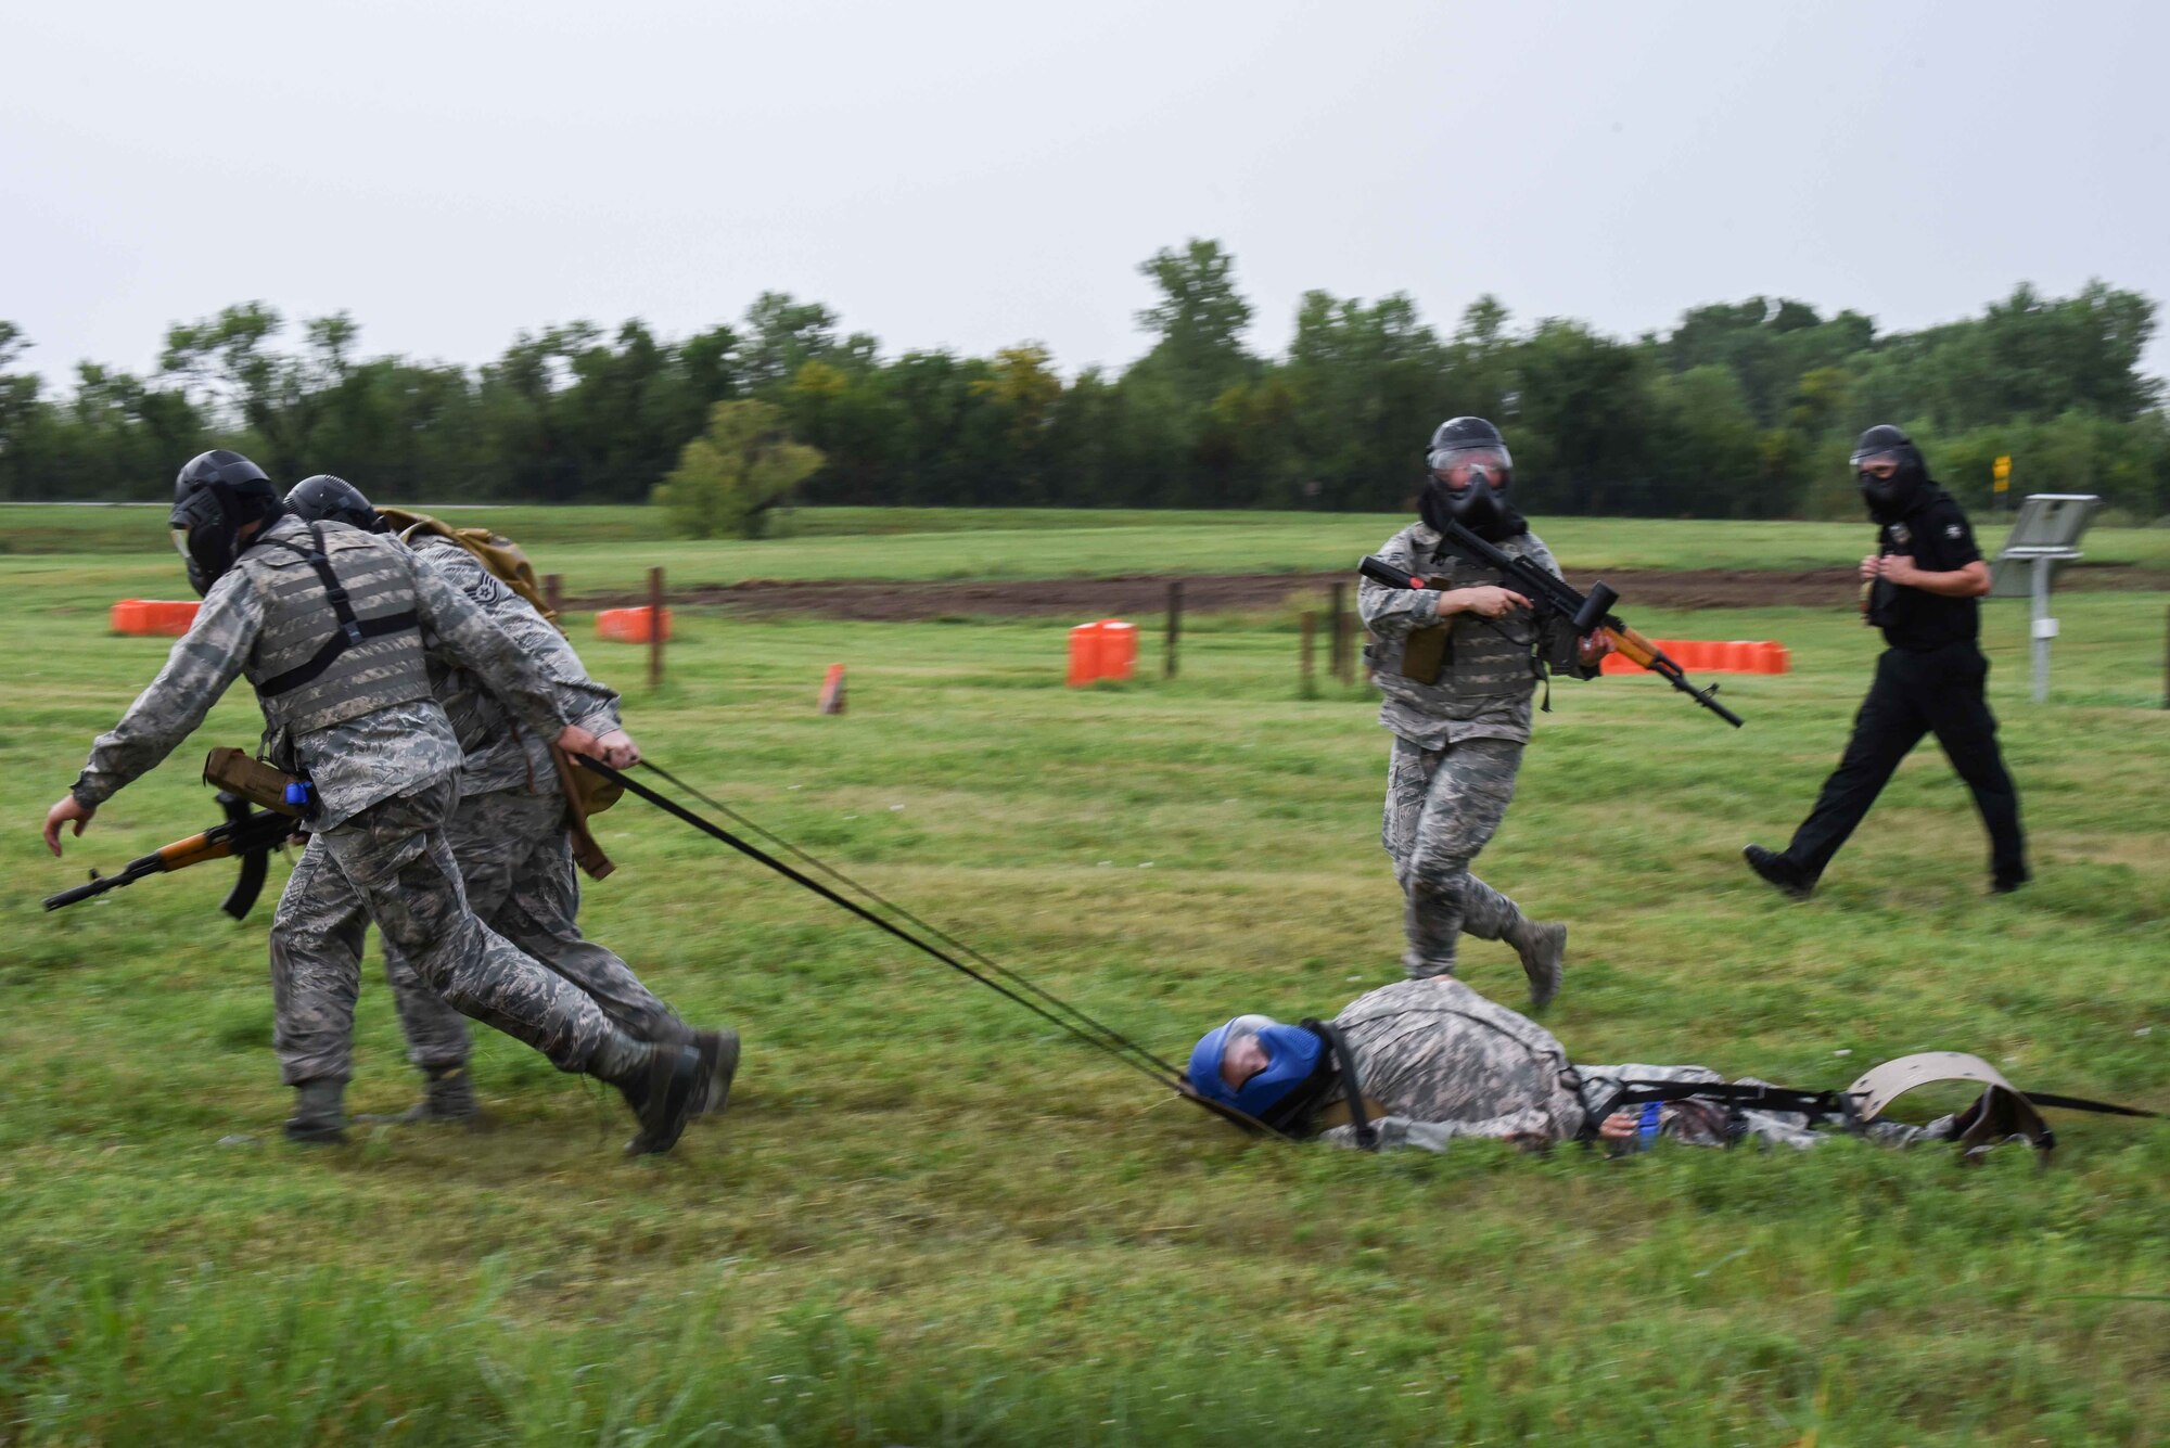
<svg viewBox="0 0 2170 1448"><path fill-rule="evenodd" d="M447 583L475 600L503 629L523 655L542 672L558 711L592 735L618 728L618 696L608 685L588 678L579 655L564 635L534 611L525 598L506 587L482 561L449 538L421 533L414 557ZM549 759L549 735L519 728L516 715L484 678L427 637L430 689L451 717L451 731L464 754L460 765L460 798L523 789L558 793L558 772Z"/></svg>

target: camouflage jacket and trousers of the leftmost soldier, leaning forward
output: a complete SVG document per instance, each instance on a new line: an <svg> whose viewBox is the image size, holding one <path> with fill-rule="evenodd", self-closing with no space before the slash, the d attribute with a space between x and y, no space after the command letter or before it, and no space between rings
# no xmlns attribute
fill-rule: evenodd
<svg viewBox="0 0 2170 1448"><path fill-rule="evenodd" d="M497 681L527 728L556 735L558 702L519 646L497 629L460 590L421 568L388 540L369 540L339 525L319 525L332 535L341 559L382 596L408 600L419 624L445 650ZM265 659L273 648L293 646L297 635L323 631L323 603L315 609L289 605L278 594L278 574L252 564L276 557L286 542L306 546L310 529L299 518L278 518L243 551L204 596L195 624L174 644L158 678L128 707L111 733L100 735L72 793L95 806L152 770L187 739L219 696L241 674L263 696ZM365 540L356 544L354 540ZM260 553L265 551L265 553ZM271 577L267 587L263 577ZM345 581L349 574L341 572ZM375 639L386 644L386 639ZM388 646L388 644L386 644ZM369 646L356 650L365 659ZM384 665L391 670L391 663ZM395 689L397 691L397 689ZM280 919L321 887L326 871L354 889L362 908L414 960L430 984L458 1010L536 1047L562 1071L588 1071L605 1079L631 1077L651 1058L647 1043L614 1025L577 988L545 971L503 936L484 928L469 910L460 871L445 845L443 826L458 798L454 780L460 744L445 711L423 696L391 702L323 728L278 726L267 744L273 754L308 772L317 787L310 817L310 850L286 882ZM289 715L293 717L293 715ZM273 941L278 941L278 921ZM273 945L278 960L278 943ZM352 1012L356 971L345 975L293 973L282 980L273 965L273 988L282 993L282 1017L312 1021L323 1012Z"/></svg>

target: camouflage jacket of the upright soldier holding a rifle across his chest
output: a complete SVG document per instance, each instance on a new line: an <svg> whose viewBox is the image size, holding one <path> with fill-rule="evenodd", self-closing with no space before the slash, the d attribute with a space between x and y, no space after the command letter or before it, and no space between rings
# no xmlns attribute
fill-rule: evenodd
<svg viewBox="0 0 2170 1448"><path fill-rule="evenodd" d="M1469 574L1469 564L1443 551L1437 529L1413 522L1389 538L1378 557L1395 568L1430 579ZM1560 577L1560 566L1536 533L1517 533L1497 544L1502 553L1534 559L1545 572ZM1482 579L1482 581L1489 581ZM1456 585L1458 587L1458 585ZM1363 579L1356 587L1356 611L1374 642L1365 648L1365 668L1371 683L1387 696L1378 709L1378 722L1397 737L1424 750L1443 750L1463 739L1510 739L1530 741L1530 694L1536 691L1536 676L1530 678L1530 694L1463 698L1450 687L1419 683L1402 674L1402 650L1408 635L1428 629L1439 618L1437 590L1387 587ZM1452 629L1482 629L1484 624L1467 613L1450 616ZM1539 659L1556 674L1591 678L1593 668L1582 668L1575 657L1575 635L1567 622L1545 616L1536 622Z"/></svg>

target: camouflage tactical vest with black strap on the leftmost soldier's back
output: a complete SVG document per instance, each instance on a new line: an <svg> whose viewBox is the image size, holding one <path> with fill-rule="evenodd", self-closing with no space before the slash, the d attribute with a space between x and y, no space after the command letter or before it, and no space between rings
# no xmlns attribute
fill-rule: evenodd
<svg viewBox="0 0 2170 1448"><path fill-rule="evenodd" d="M273 761L291 761L302 735L430 698L408 561L354 529L312 525L308 535L312 548L267 538L237 564L265 607L245 674Z"/></svg>

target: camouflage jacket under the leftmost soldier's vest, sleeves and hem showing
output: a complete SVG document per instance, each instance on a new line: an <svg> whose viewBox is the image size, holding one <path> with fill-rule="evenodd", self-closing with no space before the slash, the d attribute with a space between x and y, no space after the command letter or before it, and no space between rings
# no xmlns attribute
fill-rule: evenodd
<svg viewBox="0 0 2170 1448"><path fill-rule="evenodd" d="M345 527L345 525L323 525ZM286 516L265 529L265 538L308 540L299 518ZM443 574L421 566L412 553L386 538L382 546L397 566L412 572L414 611L423 631L510 700L521 722L556 737L564 726L558 696L527 652L490 622L467 594ZM72 793L98 806L124 785L148 774L182 739L195 733L219 696L252 663L265 631L265 598L247 570L228 570L195 613L195 624L174 642L165 668L143 689L108 733L91 746ZM293 741L302 767L317 785L312 830L330 830L380 800L412 793L432 778L460 767L460 741L434 700L414 700L365 713Z"/></svg>

